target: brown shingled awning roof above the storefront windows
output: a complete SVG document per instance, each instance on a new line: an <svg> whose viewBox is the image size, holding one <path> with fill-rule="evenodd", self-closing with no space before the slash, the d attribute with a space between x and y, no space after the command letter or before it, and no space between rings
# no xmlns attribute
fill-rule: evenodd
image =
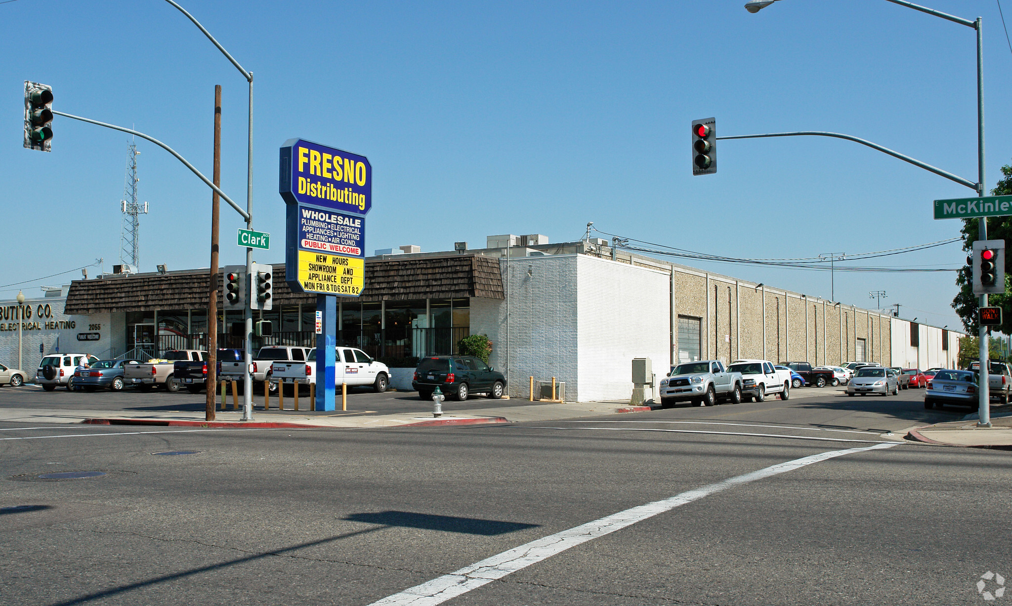
<svg viewBox="0 0 1012 606"><path fill-rule="evenodd" d="M221 278L219 278L221 284ZM221 309L222 291L218 305ZM456 255L365 262L365 289L359 301L411 299L502 299L499 260ZM284 266L274 268L275 305L316 305L316 295L293 293L284 281ZM207 272L107 276L77 280L67 293L67 314L201 309L207 307Z"/></svg>

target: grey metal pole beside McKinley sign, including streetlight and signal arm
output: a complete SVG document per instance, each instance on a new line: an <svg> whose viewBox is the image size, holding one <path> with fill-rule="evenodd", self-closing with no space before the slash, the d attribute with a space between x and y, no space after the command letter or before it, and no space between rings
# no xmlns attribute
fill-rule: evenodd
<svg viewBox="0 0 1012 606"><path fill-rule="evenodd" d="M770 4L773 4L774 2L777 2L777 1L778 0L749 0L749 2L745 3L745 9L748 10L750 13L757 13L760 10L762 10L763 8L766 8ZM914 161L913 159L911 159L909 157L904 157L902 154L897 154L896 152L893 152L892 149L887 149L887 148L884 148L884 147L882 147L880 145L875 145L873 143L869 144L869 141L865 141L863 139L857 139L857 137L853 137L853 136L850 136L850 135L840 135L840 134L837 134L837 133L828 133L828 132L778 132L778 133L772 133L772 134L747 135L747 136L742 136L742 137L716 137L716 138L721 139L721 138L751 138L751 137L755 137L755 136L793 136L793 135L798 135L798 134L818 134L818 135L823 135L823 136L837 136L837 137L840 137L840 138L848 138L850 140L854 140L854 141L866 144L866 145L868 145L870 147L874 147L874 148L876 148L876 149L878 149L880 152L884 152L887 154L890 154L891 156L894 156L896 158L899 158L901 160L909 162L909 163L911 163L911 164L913 164L915 166L919 166L922 169L926 169L928 171L931 171L932 173L935 173L936 175L941 175L942 177L945 177L947 179L955 181L956 183L960 183L962 185L965 185L966 187L971 187L973 189L976 189L977 190L977 196L979 198L983 198L984 197L984 29L983 29L984 28L984 20L981 17L977 17L977 19L975 19L975 20L963 19L962 17L957 17L955 15L950 15L950 14L947 14L947 13L943 13L943 12L941 12L939 10L935 10L933 8L928 8L926 6L921 6L919 4L914 4L913 2L907 2L906 0L886 0L886 1L887 2L892 2L893 4L899 4L900 6L906 6L907 8L912 8L914 10L918 10L918 11L921 11L923 13L927 13L929 15L934 15L934 16L939 17L941 19L945 19L947 21L952 21L953 23L958 23L960 25L965 25L966 27L973 27L975 30L977 30L977 173L978 173L978 177L977 177L977 183L976 184L972 183L972 182L969 182L969 181L967 181L965 179L962 179L960 177L956 177L955 175L952 175L950 173L946 173L945 171L942 171L940 169L936 169L936 168L934 168L934 167L932 167L930 165L926 165L926 164L921 163L919 161ZM988 219L987 219L987 217L981 217L979 219L978 225L979 225L979 227L978 227L978 239L982 239L982 240L988 239ZM987 294L981 295L980 306L981 307L987 307L988 306L988 295ZM981 348L980 348L981 369L990 368L989 365L988 365L988 331L987 331L987 328L988 328L987 326L982 325L982 326L980 326L979 332L978 332L978 336L980 337L980 340L981 340ZM987 376L987 375L985 375L985 376ZM979 409L979 413L980 413L979 414L980 420L978 421L977 424L980 427L990 427L991 426L991 408L990 408L991 407L991 394L989 393L988 382L987 381L981 381L980 383L981 383L981 385L979 386L979 389L978 389L978 394L979 394L979 398L980 398L979 401L978 401L978 409Z"/></svg>

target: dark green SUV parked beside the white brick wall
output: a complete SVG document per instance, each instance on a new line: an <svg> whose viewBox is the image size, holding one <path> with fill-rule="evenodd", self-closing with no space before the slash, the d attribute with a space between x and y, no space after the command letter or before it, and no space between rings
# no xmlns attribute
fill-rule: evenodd
<svg viewBox="0 0 1012 606"><path fill-rule="evenodd" d="M499 399L506 391L506 377L473 356L430 356L418 361L411 387L422 400L431 400L436 387L461 402L471 394Z"/></svg>

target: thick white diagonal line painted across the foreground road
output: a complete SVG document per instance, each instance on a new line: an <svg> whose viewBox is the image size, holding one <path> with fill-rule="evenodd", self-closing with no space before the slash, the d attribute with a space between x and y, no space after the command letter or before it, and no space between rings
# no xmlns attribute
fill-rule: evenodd
<svg viewBox="0 0 1012 606"><path fill-rule="evenodd" d="M436 604L441 604L446 600L468 593L473 589L478 589L483 585L502 579L510 573L552 558L570 547L599 536L604 536L615 530L620 530L625 526L654 517L659 513L670 511L675 507L691 503L713 493L755 482L756 480L762 480L763 478L769 478L770 476L776 476L777 474L783 474L835 457L874 450L876 448L891 448L896 445L899 444L897 442L889 444L878 443L871 446L847 448L846 450L821 452L786 463L779 463L742 476L735 476L723 482L686 491L667 499L654 501L646 505L639 505L594 520L593 522L587 522L586 524L532 540L519 547L503 551L448 575L443 575L432 581L406 589L401 593L386 597L377 602L372 602L369 606L435 606Z"/></svg>

